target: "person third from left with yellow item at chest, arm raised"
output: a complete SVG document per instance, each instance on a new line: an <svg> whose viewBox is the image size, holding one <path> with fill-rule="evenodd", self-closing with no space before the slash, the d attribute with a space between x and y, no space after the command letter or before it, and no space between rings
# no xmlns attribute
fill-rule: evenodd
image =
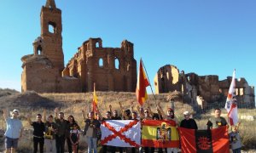
<svg viewBox="0 0 256 153"><path fill-rule="evenodd" d="M45 134L44 134L44 146L45 152L47 153L55 153L56 152L56 144L55 144L55 130L57 125L53 122L53 116L49 115L46 121L46 111L43 114L43 122L45 126Z"/></svg>

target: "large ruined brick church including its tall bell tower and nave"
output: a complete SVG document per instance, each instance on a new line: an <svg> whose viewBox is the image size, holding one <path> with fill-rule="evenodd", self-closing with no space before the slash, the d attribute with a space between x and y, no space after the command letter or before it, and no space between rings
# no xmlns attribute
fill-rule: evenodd
<svg viewBox="0 0 256 153"><path fill-rule="evenodd" d="M61 9L47 0L41 9L41 35L33 43L33 54L21 58L21 90L38 93L90 92L96 90L134 92L137 61L133 43L103 48L101 38L89 38L64 67Z"/></svg>

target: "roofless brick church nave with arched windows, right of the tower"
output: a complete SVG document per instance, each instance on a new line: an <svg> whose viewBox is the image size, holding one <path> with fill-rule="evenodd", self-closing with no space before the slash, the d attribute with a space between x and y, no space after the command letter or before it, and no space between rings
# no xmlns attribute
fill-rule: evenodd
<svg viewBox="0 0 256 153"><path fill-rule="evenodd" d="M69 60L62 74L78 77L83 91L133 92L137 83L137 61L133 57L133 44L121 43L121 48L103 48L101 38L85 41L77 54Z"/></svg>

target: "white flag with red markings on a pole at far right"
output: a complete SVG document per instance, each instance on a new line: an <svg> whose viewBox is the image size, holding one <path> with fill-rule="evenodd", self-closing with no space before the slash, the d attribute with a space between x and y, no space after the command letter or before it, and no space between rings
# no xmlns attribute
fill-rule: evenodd
<svg viewBox="0 0 256 153"><path fill-rule="evenodd" d="M227 96L225 109L228 111L228 122L230 126L236 125L238 122L237 104L236 104L236 70L233 72L230 84L229 94Z"/></svg>

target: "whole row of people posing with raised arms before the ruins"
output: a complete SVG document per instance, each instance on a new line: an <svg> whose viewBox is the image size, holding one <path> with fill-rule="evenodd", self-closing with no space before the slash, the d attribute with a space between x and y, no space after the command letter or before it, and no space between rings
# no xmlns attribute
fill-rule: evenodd
<svg viewBox="0 0 256 153"><path fill-rule="evenodd" d="M121 113L119 111L112 111L112 106L109 105L109 111L106 111L106 115L102 116L101 112L96 113L91 111L85 114L82 111L82 116L85 122L84 135L88 144L88 153L97 152L97 144L101 139L101 122L105 120L172 120L176 122L177 127L184 127L190 129L197 129L197 124L193 118L191 118L189 111L184 111L184 119L179 123L174 115L172 108L167 108L166 113L161 108L160 104L157 104L156 111L151 111L150 107L142 108L137 106L137 111L134 110L133 104L131 109L125 110L119 103ZM207 128L218 128L226 126L227 122L224 117L220 116L220 109L215 109L215 116L211 117L207 122ZM3 117L7 124L7 130L5 132L5 147L6 152L15 152L23 131L22 123L19 118L19 111L11 111L11 117L8 116L7 111L3 110ZM49 115L46 118L46 111L43 115L37 115L37 121L32 122L31 116L28 115L27 122L33 127L33 147L34 153L47 152L47 153L63 153L65 141L67 141L67 148L69 153L77 153L79 150L79 135L81 128L75 121L73 116L68 116L67 120L64 118L64 113L55 109L55 116ZM238 133L238 127L233 127L230 133L230 144L233 152L241 152L241 138ZM44 150L45 146L45 150ZM177 152L177 148L158 149L158 152ZM102 145L102 151L105 152L154 152L154 148L140 147L140 148L122 148L108 145Z"/></svg>

